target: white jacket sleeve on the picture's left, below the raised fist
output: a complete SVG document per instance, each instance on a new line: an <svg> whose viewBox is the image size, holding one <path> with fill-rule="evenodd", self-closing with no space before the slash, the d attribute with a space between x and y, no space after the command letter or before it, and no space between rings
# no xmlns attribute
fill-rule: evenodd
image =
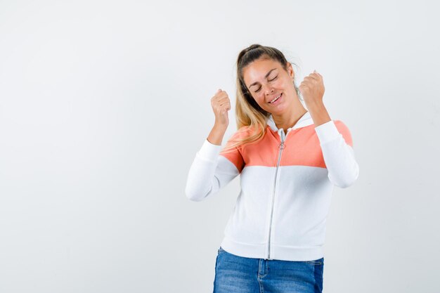
<svg viewBox="0 0 440 293"><path fill-rule="evenodd" d="M221 145L209 143L207 139L195 154L186 180L185 194L190 200L200 202L233 180L240 172L235 164L219 155Z"/></svg>

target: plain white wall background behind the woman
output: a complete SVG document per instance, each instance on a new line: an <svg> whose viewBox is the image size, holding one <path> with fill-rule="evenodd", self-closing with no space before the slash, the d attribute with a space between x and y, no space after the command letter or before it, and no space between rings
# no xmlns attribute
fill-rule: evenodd
<svg viewBox="0 0 440 293"><path fill-rule="evenodd" d="M435 1L0 1L0 292L212 292L236 178L184 188L250 44L317 70L358 181L324 292L438 292Z"/></svg>

